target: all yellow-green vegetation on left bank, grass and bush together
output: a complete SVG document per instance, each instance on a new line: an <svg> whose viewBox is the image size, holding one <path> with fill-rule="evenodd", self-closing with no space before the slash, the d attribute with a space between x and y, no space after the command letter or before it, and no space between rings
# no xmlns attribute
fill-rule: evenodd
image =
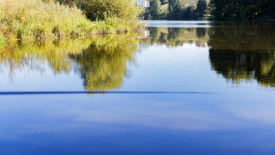
<svg viewBox="0 0 275 155"><path fill-rule="evenodd" d="M1 0L0 46L41 39L135 32L135 0Z"/></svg>

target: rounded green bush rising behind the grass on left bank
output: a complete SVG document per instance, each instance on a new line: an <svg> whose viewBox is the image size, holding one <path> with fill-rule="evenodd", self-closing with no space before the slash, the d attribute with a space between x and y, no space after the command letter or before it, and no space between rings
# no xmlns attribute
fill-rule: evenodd
<svg viewBox="0 0 275 155"><path fill-rule="evenodd" d="M136 6L136 0L57 0L67 6L76 6L83 10L91 21L105 21L124 25L127 30L140 27L142 8ZM118 28L120 31L121 28Z"/></svg>

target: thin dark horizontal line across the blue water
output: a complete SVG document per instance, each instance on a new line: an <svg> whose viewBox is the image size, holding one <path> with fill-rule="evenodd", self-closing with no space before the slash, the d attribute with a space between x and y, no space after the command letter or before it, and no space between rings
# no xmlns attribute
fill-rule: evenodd
<svg viewBox="0 0 275 155"><path fill-rule="evenodd" d="M61 92L0 92L0 95L30 94L222 94L215 92L137 92L137 91L61 91Z"/></svg>

